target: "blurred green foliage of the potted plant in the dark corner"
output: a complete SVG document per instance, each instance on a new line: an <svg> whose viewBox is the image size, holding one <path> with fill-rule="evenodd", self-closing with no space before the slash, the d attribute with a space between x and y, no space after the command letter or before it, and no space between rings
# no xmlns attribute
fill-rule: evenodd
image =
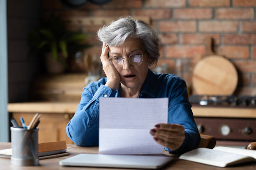
<svg viewBox="0 0 256 170"><path fill-rule="evenodd" d="M67 58L70 53L84 50L90 45L83 41L87 36L81 31L73 32L65 28L65 22L56 16L45 20L41 28L32 30L28 35L31 50L41 53L50 52L55 60L59 60L59 52Z"/></svg>

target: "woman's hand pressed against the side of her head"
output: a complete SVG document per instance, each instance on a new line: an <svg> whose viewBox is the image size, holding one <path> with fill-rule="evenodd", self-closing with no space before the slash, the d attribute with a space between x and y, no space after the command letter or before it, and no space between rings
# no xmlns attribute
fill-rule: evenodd
<svg viewBox="0 0 256 170"><path fill-rule="evenodd" d="M102 62L102 68L107 76L107 82L105 85L114 90L117 90L120 83L120 75L118 71L110 65L108 60L108 50L108 45L103 42L100 60Z"/></svg>

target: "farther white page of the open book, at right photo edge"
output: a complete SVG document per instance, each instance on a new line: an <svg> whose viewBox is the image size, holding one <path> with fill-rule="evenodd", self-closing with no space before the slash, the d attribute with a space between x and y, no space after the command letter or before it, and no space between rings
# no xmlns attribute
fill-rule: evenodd
<svg viewBox="0 0 256 170"><path fill-rule="evenodd" d="M223 146L218 146L213 148L214 150L221 150L224 152L229 152L229 153L237 153L240 155L246 155L246 156L251 156L254 159L256 159L256 150L248 150L248 149L239 149L239 148L231 148L231 147L223 147Z"/></svg>

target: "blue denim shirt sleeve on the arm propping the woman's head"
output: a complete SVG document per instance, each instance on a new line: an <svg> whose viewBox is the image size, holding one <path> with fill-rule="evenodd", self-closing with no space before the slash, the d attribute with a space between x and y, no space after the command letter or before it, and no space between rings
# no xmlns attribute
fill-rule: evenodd
<svg viewBox="0 0 256 170"><path fill-rule="evenodd" d="M116 94L105 85L100 85L95 92L92 86L84 87L77 111L66 127L68 137L79 146L98 145L100 97L115 97Z"/></svg>

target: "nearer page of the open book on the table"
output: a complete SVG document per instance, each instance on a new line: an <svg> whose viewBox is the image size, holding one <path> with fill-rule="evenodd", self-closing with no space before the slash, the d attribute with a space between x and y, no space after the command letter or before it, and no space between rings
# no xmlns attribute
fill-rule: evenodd
<svg viewBox="0 0 256 170"><path fill-rule="evenodd" d="M179 159L194 161L197 163L203 163L207 165L225 167L227 165L232 165L239 161L239 163L244 159L245 161L251 161L253 158L249 158L245 155L239 155L235 153L223 152L220 150L212 150L208 148L197 148L191 150L187 153L182 154Z"/></svg>

